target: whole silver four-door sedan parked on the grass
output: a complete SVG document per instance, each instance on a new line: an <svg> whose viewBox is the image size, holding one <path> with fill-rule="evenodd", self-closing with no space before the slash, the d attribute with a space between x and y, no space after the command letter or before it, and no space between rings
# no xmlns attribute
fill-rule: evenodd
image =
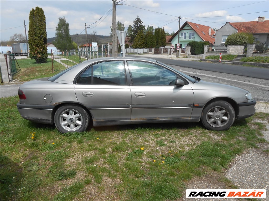
<svg viewBox="0 0 269 201"><path fill-rule="evenodd" d="M55 124L62 132L93 126L153 122L201 122L230 128L252 116L256 101L239 87L203 81L147 58L106 57L32 80L18 90L17 108L27 120Z"/></svg>

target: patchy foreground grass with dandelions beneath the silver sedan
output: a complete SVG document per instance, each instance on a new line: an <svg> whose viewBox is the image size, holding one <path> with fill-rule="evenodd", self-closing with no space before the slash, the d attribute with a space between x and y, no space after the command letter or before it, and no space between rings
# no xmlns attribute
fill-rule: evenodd
<svg viewBox="0 0 269 201"><path fill-rule="evenodd" d="M20 117L1 98L1 200L176 200L194 177L222 175L245 149L265 143L269 114L223 132L200 124L144 124L59 133ZM218 178L227 188L227 179Z"/></svg>

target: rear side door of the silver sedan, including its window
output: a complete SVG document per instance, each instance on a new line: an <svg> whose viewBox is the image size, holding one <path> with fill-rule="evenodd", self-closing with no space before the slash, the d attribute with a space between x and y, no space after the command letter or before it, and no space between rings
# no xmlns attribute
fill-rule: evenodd
<svg viewBox="0 0 269 201"><path fill-rule="evenodd" d="M76 80L77 100L91 112L93 121L131 118L130 86L123 61L106 61L87 68Z"/></svg>

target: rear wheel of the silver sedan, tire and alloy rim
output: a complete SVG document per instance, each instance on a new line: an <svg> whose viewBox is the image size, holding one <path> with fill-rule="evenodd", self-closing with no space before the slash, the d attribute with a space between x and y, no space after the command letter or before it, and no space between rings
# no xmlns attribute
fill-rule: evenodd
<svg viewBox="0 0 269 201"><path fill-rule="evenodd" d="M61 133L83 132L89 126L90 116L77 105L59 107L54 115L54 124Z"/></svg>

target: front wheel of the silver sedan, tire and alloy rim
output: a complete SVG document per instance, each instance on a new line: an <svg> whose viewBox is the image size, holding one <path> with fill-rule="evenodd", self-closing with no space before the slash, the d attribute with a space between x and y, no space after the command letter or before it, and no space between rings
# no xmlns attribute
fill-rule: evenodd
<svg viewBox="0 0 269 201"><path fill-rule="evenodd" d="M204 107L201 121L209 130L224 131L233 125L235 110L226 101L216 101Z"/></svg>

